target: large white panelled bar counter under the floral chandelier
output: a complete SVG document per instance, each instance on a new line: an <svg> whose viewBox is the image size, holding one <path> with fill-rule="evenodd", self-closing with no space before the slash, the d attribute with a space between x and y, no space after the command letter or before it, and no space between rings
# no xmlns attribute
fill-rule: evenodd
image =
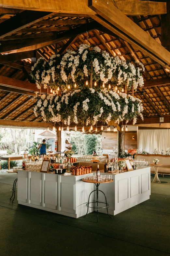
<svg viewBox="0 0 170 256"><path fill-rule="evenodd" d="M81 217L86 214L86 203L95 189L93 183L83 182L83 177L18 170L18 203L74 218ZM116 215L149 199L150 167L114 173L112 177L113 182L99 186L109 203L109 214ZM93 200L94 193L90 198L90 201ZM99 200L105 202L100 192ZM92 211L93 208L89 208L89 213ZM99 212L106 213L106 209Z"/></svg>

